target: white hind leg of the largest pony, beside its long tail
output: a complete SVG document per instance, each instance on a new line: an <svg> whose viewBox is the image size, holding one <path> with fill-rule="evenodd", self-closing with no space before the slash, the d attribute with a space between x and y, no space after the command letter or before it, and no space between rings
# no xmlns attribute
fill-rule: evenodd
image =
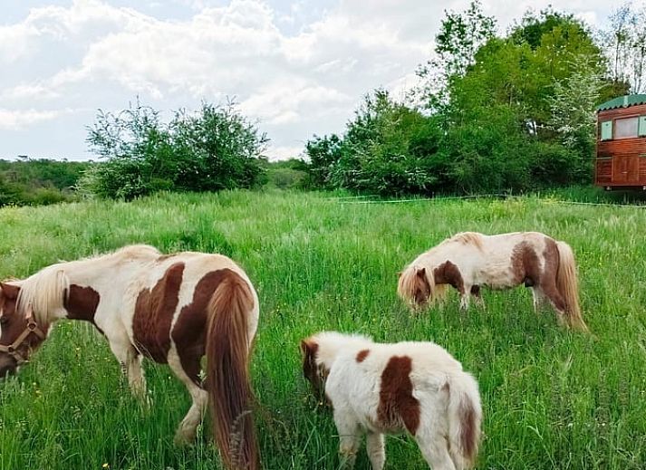
<svg viewBox="0 0 646 470"><path fill-rule="evenodd" d="M199 359L197 361L197 370L199 370ZM202 418L207 411L208 394L207 390L198 385L198 378L191 379L188 377L188 373L182 366L178 352L174 347L169 350L169 367L173 372L175 372L178 379L184 383L188 389L190 398L193 398L193 403L190 408L188 408L188 413L184 419L182 419L181 423L179 423L178 430L175 433L175 444L181 446L189 444L195 440L198 425L202 422Z"/></svg>

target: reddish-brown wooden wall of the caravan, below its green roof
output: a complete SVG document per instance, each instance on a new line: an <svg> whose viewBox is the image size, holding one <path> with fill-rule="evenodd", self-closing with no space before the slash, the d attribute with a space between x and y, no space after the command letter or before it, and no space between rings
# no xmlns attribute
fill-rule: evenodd
<svg viewBox="0 0 646 470"><path fill-rule="evenodd" d="M599 111L598 122L646 116L646 104ZM613 126L614 127L614 126ZM646 186L646 137L601 140L597 126L594 183L603 187Z"/></svg>

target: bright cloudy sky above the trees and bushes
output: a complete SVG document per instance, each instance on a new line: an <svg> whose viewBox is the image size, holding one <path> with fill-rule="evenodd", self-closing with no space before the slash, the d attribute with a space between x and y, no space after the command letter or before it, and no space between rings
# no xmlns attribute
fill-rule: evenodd
<svg viewBox="0 0 646 470"><path fill-rule="evenodd" d="M98 110L140 102L170 117L235 101L298 157L314 134L342 132L362 96L415 86L445 10L468 0L0 0L0 158L96 158ZM482 2L506 31L551 0ZM560 10L603 26L607 0Z"/></svg>

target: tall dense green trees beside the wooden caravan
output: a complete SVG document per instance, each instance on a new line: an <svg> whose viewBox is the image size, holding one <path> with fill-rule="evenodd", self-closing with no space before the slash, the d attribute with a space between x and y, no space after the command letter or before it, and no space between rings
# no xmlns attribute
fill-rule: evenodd
<svg viewBox="0 0 646 470"><path fill-rule="evenodd" d="M528 13L495 32L479 2L448 13L414 93L373 91L342 135L307 142L313 185L429 195L590 184L595 105L631 84L572 14Z"/></svg>

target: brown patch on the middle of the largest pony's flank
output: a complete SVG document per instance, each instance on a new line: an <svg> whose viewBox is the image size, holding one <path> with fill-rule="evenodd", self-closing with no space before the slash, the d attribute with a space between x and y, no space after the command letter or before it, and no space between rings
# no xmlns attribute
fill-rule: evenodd
<svg viewBox="0 0 646 470"><path fill-rule="evenodd" d="M170 323L179 302L184 264L169 266L155 286L139 293L132 319L136 348L156 362L168 362Z"/></svg>

